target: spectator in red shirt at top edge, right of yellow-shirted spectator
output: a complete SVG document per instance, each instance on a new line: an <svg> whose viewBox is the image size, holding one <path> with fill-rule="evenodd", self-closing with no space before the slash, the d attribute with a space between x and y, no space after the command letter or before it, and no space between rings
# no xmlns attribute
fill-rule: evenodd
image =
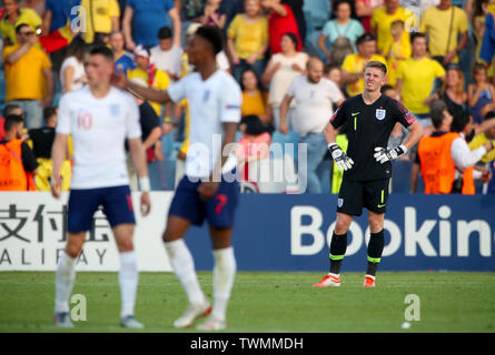
<svg viewBox="0 0 495 355"><path fill-rule="evenodd" d="M280 0L261 0L263 8L268 13L268 33L270 37L271 54L280 53L280 40L285 33L294 33L297 37L297 51L303 50L299 29L296 18L288 4L280 3Z"/></svg>

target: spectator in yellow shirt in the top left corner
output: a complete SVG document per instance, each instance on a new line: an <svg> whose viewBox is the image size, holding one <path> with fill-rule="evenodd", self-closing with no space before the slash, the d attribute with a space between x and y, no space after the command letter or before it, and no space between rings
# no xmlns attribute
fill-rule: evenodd
<svg viewBox="0 0 495 355"><path fill-rule="evenodd" d="M31 30L36 31L38 27L41 26L42 20L38 13L32 9L19 9L18 0L3 0L4 16L0 21L0 32L4 45L17 44L16 28L21 24L28 24Z"/></svg>

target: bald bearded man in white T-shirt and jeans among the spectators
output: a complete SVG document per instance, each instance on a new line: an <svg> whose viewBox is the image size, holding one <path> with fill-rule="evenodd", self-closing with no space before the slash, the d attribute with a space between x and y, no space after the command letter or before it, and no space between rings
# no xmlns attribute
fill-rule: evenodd
<svg viewBox="0 0 495 355"><path fill-rule="evenodd" d="M307 182L306 192L321 193L316 170L327 152L323 129L328 123L328 118L334 114L333 103L340 105L344 95L333 81L323 78L324 64L319 59L309 59L306 69L307 75L296 77L281 101L279 131L288 133L287 116L290 103L295 100L293 129L300 136L299 143L306 144L307 148L306 169L299 172L303 182L299 183L299 191L305 192L304 182Z"/></svg>

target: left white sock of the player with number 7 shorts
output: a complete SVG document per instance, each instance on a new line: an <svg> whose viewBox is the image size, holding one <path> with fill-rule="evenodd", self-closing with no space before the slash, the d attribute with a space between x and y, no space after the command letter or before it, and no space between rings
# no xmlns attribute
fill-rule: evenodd
<svg viewBox="0 0 495 355"><path fill-rule="evenodd" d="M174 272L182 284L187 297L189 298L189 303L205 303L206 297L199 286L198 277L196 276L195 261L192 260L192 255L184 240L180 239L174 242L165 242L164 244Z"/></svg>

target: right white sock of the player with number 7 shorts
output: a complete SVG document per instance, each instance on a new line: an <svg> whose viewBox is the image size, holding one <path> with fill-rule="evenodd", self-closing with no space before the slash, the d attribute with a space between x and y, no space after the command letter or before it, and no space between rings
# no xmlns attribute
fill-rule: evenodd
<svg viewBox="0 0 495 355"><path fill-rule="evenodd" d="M211 315L217 320L225 321L227 304L236 276L236 257L231 246L214 250L214 306Z"/></svg>

